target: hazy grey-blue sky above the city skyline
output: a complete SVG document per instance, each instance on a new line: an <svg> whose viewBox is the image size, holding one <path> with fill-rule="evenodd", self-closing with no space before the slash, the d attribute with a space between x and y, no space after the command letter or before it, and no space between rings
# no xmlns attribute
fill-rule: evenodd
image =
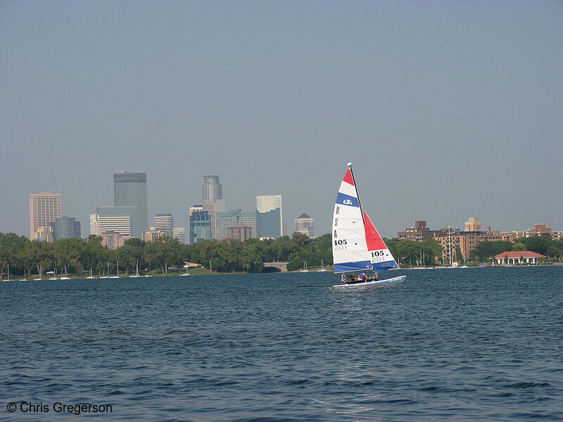
<svg viewBox="0 0 563 422"><path fill-rule="evenodd" d="M330 231L351 161L384 236L563 230L562 1L0 2L0 231L30 193L82 222L144 170L149 225L280 193Z"/></svg>

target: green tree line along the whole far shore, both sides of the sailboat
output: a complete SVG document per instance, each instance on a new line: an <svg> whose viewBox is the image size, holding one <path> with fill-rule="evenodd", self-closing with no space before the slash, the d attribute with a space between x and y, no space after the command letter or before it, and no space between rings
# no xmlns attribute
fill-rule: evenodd
<svg viewBox="0 0 563 422"><path fill-rule="evenodd" d="M443 248L433 240L385 239L389 250L401 267L434 266L442 263ZM514 242L485 241L471 252L470 262L487 262L489 258L508 250L531 250L550 260L563 257L562 239L548 236L520 238ZM459 251L457 251L459 253ZM459 260L459 257L458 259ZM61 274L92 271L94 274L134 273L150 269L167 274L169 268L182 268L184 262L195 262L217 272L258 272L264 262L289 262L289 271L332 265L331 235L309 238L301 233L277 239L257 238L241 242L234 239L200 241L182 245L177 239L158 238L154 242L129 239L120 248L110 250L101 244L101 237L60 239L53 243L30 241L14 233L0 233L0 268L10 273L44 275L47 271Z"/></svg>

